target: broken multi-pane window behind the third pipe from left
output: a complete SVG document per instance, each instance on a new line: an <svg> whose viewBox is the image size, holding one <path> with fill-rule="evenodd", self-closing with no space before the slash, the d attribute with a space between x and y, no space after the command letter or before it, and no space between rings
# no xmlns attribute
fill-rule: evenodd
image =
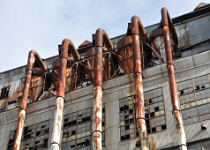
<svg viewBox="0 0 210 150"><path fill-rule="evenodd" d="M64 116L62 150L91 149L93 109L88 108ZM102 108L102 146L105 146L105 107Z"/></svg>

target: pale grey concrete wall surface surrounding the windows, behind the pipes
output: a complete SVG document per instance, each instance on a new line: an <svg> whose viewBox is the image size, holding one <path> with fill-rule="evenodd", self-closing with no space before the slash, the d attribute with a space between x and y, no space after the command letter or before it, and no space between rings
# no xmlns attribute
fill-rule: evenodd
<svg viewBox="0 0 210 150"><path fill-rule="evenodd" d="M202 59L201 59L202 58ZM188 78L194 78L210 73L210 51L186 57L175 61L177 82ZM172 107L170 102L168 77L165 64L149 68L143 71L144 91L163 88L163 97L165 103L167 130L152 134L157 142L157 147L167 148L179 144L175 120L172 115ZM138 139L120 141L119 132L119 99L134 94L133 76L128 74L121 76L103 84L103 103L106 108L106 124L105 124L105 145L106 150L134 150L135 143ZM35 103L31 103L27 107L27 116L25 126L51 120L54 115L55 98L50 98ZM93 105L93 87L89 86L76 91L66 93L66 102L64 115L90 108ZM0 145L6 150L9 133L15 130L17 123L18 108L0 113ZM210 126L210 120L206 120L207 126ZM210 130L200 130L201 122L185 126L187 142L198 141L200 139L209 138ZM51 134L51 133L50 133ZM149 135L151 141L151 135Z"/></svg>

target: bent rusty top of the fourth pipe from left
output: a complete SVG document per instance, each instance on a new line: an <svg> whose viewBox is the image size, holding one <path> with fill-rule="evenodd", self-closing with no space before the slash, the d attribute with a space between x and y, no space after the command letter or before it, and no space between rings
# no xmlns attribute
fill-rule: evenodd
<svg viewBox="0 0 210 150"><path fill-rule="evenodd" d="M140 34L143 37L147 37L146 29L144 28L141 19L138 16L133 16L131 18L131 23L132 23L132 30L131 30L132 35Z"/></svg>

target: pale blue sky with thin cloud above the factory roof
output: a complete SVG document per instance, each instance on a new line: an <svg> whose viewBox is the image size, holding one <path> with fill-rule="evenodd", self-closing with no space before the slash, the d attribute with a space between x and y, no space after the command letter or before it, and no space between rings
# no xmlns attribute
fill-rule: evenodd
<svg viewBox="0 0 210 150"><path fill-rule="evenodd" d="M192 12L200 2L210 0L2 0L0 72L26 65L31 49L48 58L58 54L64 38L78 47L92 41L98 28L110 38L124 34L133 15L148 26L160 21L162 7L173 18Z"/></svg>

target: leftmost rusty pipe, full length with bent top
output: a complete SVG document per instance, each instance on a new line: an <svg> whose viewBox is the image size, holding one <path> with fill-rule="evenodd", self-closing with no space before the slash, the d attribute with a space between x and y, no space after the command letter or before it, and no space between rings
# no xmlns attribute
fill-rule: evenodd
<svg viewBox="0 0 210 150"><path fill-rule="evenodd" d="M41 70L33 68L35 61L37 61L37 63L41 67ZM28 55L25 83L24 83L23 94L22 94L22 98L21 98L21 106L20 106L19 115L18 115L18 122L17 122L17 127L16 127L16 132L15 132L13 150L20 149L20 142L21 142L23 126L24 126L24 121L25 121L26 108L27 108L32 73L34 71L35 74L39 74L40 72L45 72L47 70L48 70L47 66L44 64L44 62L42 61L39 54L36 51L31 50Z"/></svg>

